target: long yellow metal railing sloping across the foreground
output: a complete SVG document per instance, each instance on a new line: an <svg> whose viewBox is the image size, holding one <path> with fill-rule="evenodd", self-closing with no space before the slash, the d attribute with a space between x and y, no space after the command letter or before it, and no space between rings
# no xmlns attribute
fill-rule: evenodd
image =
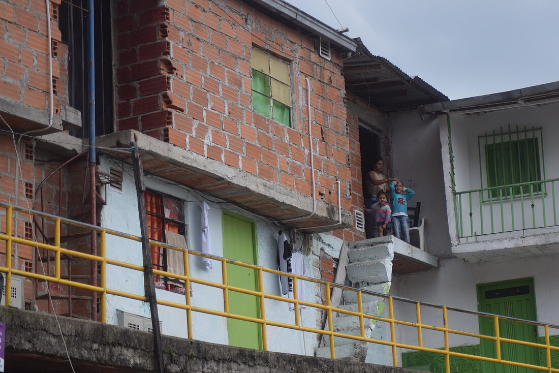
<svg viewBox="0 0 559 373"><path fill-rule="evenodd" d="M37 242L36 239L25 239L21 238L20 234L14 234L14 232L21 232L17 229L20 223L30 220L32 216L41 218L43 220L49 221L49 224L44 223L44 232L50 232L53 234L54 244ZM140 238L135 235L125 234L116 232L115 230L101 228L98 226L92 226L88 224L78 223L76 221L58 218L53 215L39 213L38 211L23 209L20 207L10 206L0 202L0 220L2 224L0 225L0 240L5 243L3 245L3 250L0 250L0 257L4 256L3 260L0 260L0 272L6 274L6 286L9 288L11 284L11 278L13 275L24 276L27 279L36 280L39 282L48 282L50 284L58 284L68 289L74 289L75 291L92 291L97 292L101 300L100 304L100 320L105 323L107 321L107 294L119 296L122 298L127 298L131 300L146 301L146 297L143 295L143 286L140 284L135 287L136 292L130 290L130 284L126 284L126 281L113 281L112 284L107 283L107 267L119 267L122 271L133 271L131 278L138 278L138 274L144 271L144 267L141 263L131 263L120 261L114 257L108 257L106 255L107 248L110 245L117 245L119 248L119 254L122 254L123 248L126 243L122 240L127 240L131 243L139 243ZM71 250L61 245L61 233L64 233L64 226L79 227L82 229L88 229L96 231L99 235L98 244L100 245L99 254L86 254L76 250ZM184 248L174 247L173 245L164 244L161 242L150 241L152 245L158 245L162 248L167 248L170 250L176 250L182 253L184 259L184 275L178 275L177 273L154 270L154 274L158 276L163 276L167 278L174 278L178 280L183 280L185 282L185 289L189 289L190 283L198 284L200 286L205 286L205 291L202 294L207 294L210 289L219 289L222 292L222 303L219 308L208 308L211 304L204 304L203 298L202 303L198 305L192 304L192 298L189 291L184 294L183 301L173 302L167 300L158 300L157 303L160 306L168 306L174 309L183 310L186 316L187 323L187 337L188 338L200 338L203 339L204 334L207 332L203 330L203 334L196 336L193 334L192 328L192 313L202 313L211 314L218 317L245 320L247 322L257 323L260 325L260 333L262 338L262 348L263 350L268 349L267 343L267 330L270 327L281 327L287 329L300 330L301 332L310 332L319 334L328 338L330 346L330 355L335 358L335 343L339 342L336 338L349 338L354 342L362 341L368 343L375 343L379 348L386 348L385 353L387 356L392 357L392 362L394 366L398 364L398 354L401 352L415 350L434 353L444 357L444 366L447 373L451 372L451 366L454 367L458 363L458 360L462 358L472 359L476 361L482 361L485 363L498 363L510 366L526 367L528 369L541 370L547 372L559 372L559 366L557 366L555 357L559 353L559 347L553 346L551 342L552 336L559 335L559 325L540 323L532 320L522 320L515 319L511 317L504 317L500 315L476 312L471 310L463 310L458 308L452 308L448 306L424 303L419 301L413 301L405 298L397 298L395 296L389 296L384 294L378 294L370 291L363 291L355 289L353 287L342 286L333 284L331 282L317 280L315 278L292 275L290 273L278 272L266 267L260 267L255 265L249 265L247 263L242 263L239 261L233 261L231 259L226 259L218 256L211 256L207 254L202 254L200 252L190 251ZM44 266L37 266L38 268L25 267L23 270L15 268L12 264L12 254L21 250L24 247L31 247L36 250L44 251L45 255L50 255L54 257L54 262L51 265L54 266L54 275L47 275L44 271ZM135 245L138 251L141 250L140 245ZM221 282L214 282L209 280L204 280L202 278L193 277L190 273L188 263L189 256L198 257L209 257L214 259L221 267ZM69 280L67 276L64 275L63 268L61 268L61 261L64 258L81 258L89 261L89 263L97 262L100 265L98 285L84 284L83 280ZM138 256L140 257L140 256ZM44 258L44 256L43 256ZM141 260L141 259L140 259ZM243 287L232 286L228 281L228 266L241 266L245 268L250 268L255 271L257 278L257 289L258 290L248 290ZM88 266L91 268L91 266ZM219 269L218 269L219 270ZM264 273L267 273L264 276ZM264 291L264 289L276 289L277 288L277 277L271 275L283 275L293 278L293 292L295 294L295 299L283 298L278 294L271 294L270 292ZM119 278L122 278L119 277ZM319 287L319 292L317 294L323 294L322 299L316 301L302 301L297 299L297 279L305 281L305 283L311 282L314 286ZM135 281L138 282L138 281ZM112 287L115 286L115 287ZM333 289L339 288L343 291L353 292L353 298L356 299L357 303L353 310L345 309L340 307L335 307L331 304L331 294ZM50 289L47 286L46 289ZM206 291L207 290L207 291ZM260 306L260 314L258 317L250 317L247 315L236 314L229 308L229 296L230 292L240 292L250 296L254 296L258 299ZM266 301L265 301L266 300ZM364 311L368 308L371 301L376 301L378 304L378 313L369 314ZM10 297L6 299L6 304L10 305ZM293 313L293 319L291 322L286 322L286 320L274 320L273 313L271 310L277 309L278 306L282 305L287 307L287 303L295 305L295 312ZM387 315L386 311L381 304L387 305ZM326 328L321 329L317 327L305 327L302 325L301 315L299 312L299 307L297 305L306 305L308 308L318 310L326 317ZM370 309L370 308L369 308ZM342 320L344 320L345 325L347 325L347 318L352 318L350 325L353 325L353 330L357 329L357 334L351 334L347 331L347 328L340 326ZM469 320L468 320L469 319ZM492 325L490 328L491 332L487 334L482 334L477 332L478 322L481 323L482 319L489 319L489 324ZM428 322L426 320L429 320ZM371 328L372 325L376 327L386 328L389 336L381 338L369 338L365 332L366 328ZM510 325L529 325L530 330L535 329L539 332L539 339L534 341L525 341L522 339L515 339L511 337L507 330L512 330L514 327ZM468 327L466 325L469 325ZM470 328L468 330L468 328ZM531 333L529 333L531 334ZM457 352L453 346L460 346L462 344L472 345L475 343L485 343L486 345L492 346L484 354L474 355L471 353ZM442 346L442 347L441 347ZM503 351L508 351L514 346L520 346L522 348L529 347L533 348L542 356L539 359L539 364L537 362L525 362L522 361L522 357L516 357L516 355L509 355ZM440 348L435 348L440 347ZM480 356L485 355L485 356ZM552 359L553 356L553 359Z"/></svg>

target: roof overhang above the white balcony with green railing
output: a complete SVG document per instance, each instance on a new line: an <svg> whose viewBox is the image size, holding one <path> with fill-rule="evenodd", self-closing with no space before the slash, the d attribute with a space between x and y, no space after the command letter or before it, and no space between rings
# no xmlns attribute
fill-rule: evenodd
<svg viewBox="0 0 559 373"><path fill-rule="evenodd" d="M421 114L472 114L522 106L538 106L559 102L559 82L540 84L491 95L461 98L446 102L421 105Z"/></svg>

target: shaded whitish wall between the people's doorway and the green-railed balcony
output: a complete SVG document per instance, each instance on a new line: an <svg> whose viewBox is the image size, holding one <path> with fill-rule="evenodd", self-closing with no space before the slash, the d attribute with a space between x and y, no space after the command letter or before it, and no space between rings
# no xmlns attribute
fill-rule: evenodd
<svg viewBox="0 0 559 373"><path fill-rule="evenodd" d="M447 234L439 121L422 121L413 111L391 114L390 121L394 173L404 186L415 191L408 205L421 202L420 216L427 218L426 251L434 256L448 256L451 242Z"/></svg>

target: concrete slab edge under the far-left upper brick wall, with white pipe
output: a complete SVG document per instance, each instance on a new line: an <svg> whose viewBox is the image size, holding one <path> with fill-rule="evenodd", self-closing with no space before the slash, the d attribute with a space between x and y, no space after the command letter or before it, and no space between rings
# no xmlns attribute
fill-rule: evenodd
<svg viewBox="0 0 559 373"><path fill-rule="evenodd" d="M80 112L72 107L63 106L59 114L53 115L53 125L51 128L41 131L49 125L48 110L41 110L5 97L0 97L0 115L3 118L3 120L0 120L1 129L9 131L11 128L15 133L20 134L36 130L37 132L32 135L44 135L82 126Z"/></svg>

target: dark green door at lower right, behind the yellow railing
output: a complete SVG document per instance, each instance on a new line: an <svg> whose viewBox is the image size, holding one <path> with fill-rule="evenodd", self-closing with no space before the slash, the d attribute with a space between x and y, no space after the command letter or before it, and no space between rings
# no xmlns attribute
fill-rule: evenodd
<svg viewBox="0 0 559 373"><path fill-rule="evenodd" d="M496 315L519 319L536 320L536 298L532 278L492 282L477 285L479 310ZM495 336L494 321L480 317L480 333ZM500 320L499 334L504 338L537 343L537 329L534 325ZM482 356L496 357L495 342L482 339ZM501 342L501 358L504 360L539 365L537 348L520 344ZM484 373L532 373L537 370L504 364L484 362Z"/></svg>

